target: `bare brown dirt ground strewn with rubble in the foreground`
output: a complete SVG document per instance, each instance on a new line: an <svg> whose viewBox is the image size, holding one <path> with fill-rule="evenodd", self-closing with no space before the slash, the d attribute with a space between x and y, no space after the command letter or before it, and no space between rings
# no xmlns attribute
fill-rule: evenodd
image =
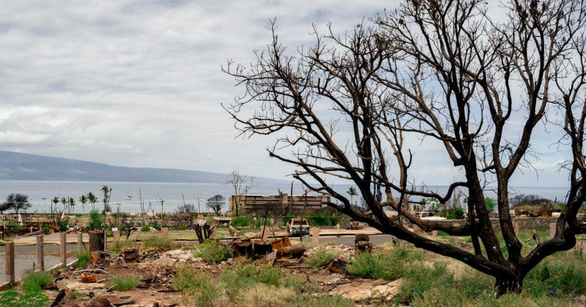
<svg viewBox="0 0 586 307"><path fill-rule="evenodd" d="M328 245L325 248L331 249L340 258L346 259L350 258L354 250L351 246L343 245ZM307 249L305 254L311 255L315 250L316 248ZM59 272L56 285L46 294L53 301L59 294L59 289L65 289L65 298L56 305L60 307L109 307L108 304L132 307L175 306L179 304L181 296L173 290L171 281L178 264L185 263L214 274L236 262L233 258L229 258L221 263L208 263L202 258L194 257L193 250L189 249L140 251L139 255L138 262L130 262L125 261L124 257L111 254L108 256L102 253L102 258L89 263L86 268ZM285 274L302 274L318 282L323 294L339 294L355 301L372 298L391 299L401 284L401 280L389 282L350 277L329 268L315 270L297 258L277 260L274 266L280 267ZM86 277L95 275L96 282L82 282L81 274ZM114 275L135 275L139 277L141 283L130 291L113 291L108 281ZM74 292L83 298L73 298Z"/></svg>

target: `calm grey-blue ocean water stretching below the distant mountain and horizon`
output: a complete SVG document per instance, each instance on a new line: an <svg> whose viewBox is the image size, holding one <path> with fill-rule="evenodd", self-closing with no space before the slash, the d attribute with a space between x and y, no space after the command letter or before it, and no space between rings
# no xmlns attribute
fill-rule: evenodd
<svg viewBox="0 0 586 307"><path fill-rule="evenodd" d="M11 193L21 193L29 196L29 201L32 207L27 212L50 212L50 200L54 196L58 197L73 197L79 199L81 195L92 192L98 198L96 208L103 209L103 193L100 188L107 185L112 188L112 195L110 205L115 211L120 202L120 209L124 212L141 212L141 205L139 198L148 203L151 202L151 210L155 212L161 211L161 202L157 199L163 199L163 211L173 212L177 206L183 203L193 203L198 205L198 199L209 198L213 195L220 194L226 199L234 194L234 189L230 185L224 184L189 184L189 183L168 183L168 182L88 182L88 181L0 181L0 200L6 199ZM350 185L333 185L333 189L340 194L347 195L345 191ZM427 187L432 191L445 193L447 187L444 186L430 186ZM251 189L249 194L260 195L274 195L278 194L278 190L283 193L291 193L291 184L263 184L257 185ZM536 194L543 198L548 198L557 201L565 201L567 188L554 187L518 187L515 188L517 194ZM301 184L293 185L293 194L303 194L304 189ZM312 194L311 192L309 194ZM486 192L487 196L495 196L491 191ZM126 199L127 196L132 196L132 199ZM46 199L42 199L46 198ZM354 196L354 201L359 201L359 197ZM419 199L412 198L413 201ZM201 211L206 211L205 201L199 202ZM90 204L86 204L85 212L91 208ZM224 205L224 210L227 208ZM81 203L77 201L73 212L81 213Z"/></svg>

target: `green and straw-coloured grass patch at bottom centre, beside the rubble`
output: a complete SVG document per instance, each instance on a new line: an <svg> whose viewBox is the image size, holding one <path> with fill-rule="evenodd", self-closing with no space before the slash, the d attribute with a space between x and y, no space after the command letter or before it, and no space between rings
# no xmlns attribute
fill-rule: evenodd
<svg viewBox="0 0 586 307"><path fill-rule="evenodd" d="M185 306L355 306L341 296L314 295L319 285L298 274L239 258L219 274L184 265L172 287L182 292Z"/></svg>

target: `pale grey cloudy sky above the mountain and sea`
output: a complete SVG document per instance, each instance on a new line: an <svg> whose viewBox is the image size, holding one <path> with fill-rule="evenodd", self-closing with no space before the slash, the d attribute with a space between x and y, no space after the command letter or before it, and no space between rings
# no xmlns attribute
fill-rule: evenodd
<svg viewBox="0 0 586 307"><path fill-rule="evenodd" d="M311 43L311 24L339 33L393 1L9 1L0 11L0 149L134 167L285 178L272 137L235 139L220 102L241 88L227 58L253 60L278 19L281 40ZM543 130L543 129L542 129ZM524 186L566 184L564 156L541 133L541 173ZM412 141L417 146L418 140ZM427 146L426 146L427 147ZM418 153L417 181L458 176L441 147Z"/></svg>

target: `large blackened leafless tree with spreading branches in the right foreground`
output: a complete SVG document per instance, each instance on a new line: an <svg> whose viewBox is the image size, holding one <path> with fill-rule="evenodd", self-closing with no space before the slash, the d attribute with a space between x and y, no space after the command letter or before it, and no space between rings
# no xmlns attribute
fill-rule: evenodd
<svg viewBox="0 0 586 307"><path fill-rule="evenodd" d="M246 95L224 108L241 133L277 136L270 156L297 165L295 178L342 202L329 206L492 275L499 294L518 292L535 265L573 247L584 231L576 214L586 197L586 16L584 5L571 0L510 0L502 9L505 21L497 22L483 0L405 1L343 37L314 27L315 45L296 56L287 54L273 22L272 42L255 52L255 64L229 61L223 68L246 87ZM512 121L522 123L518 134L510 131ZM559 146L573 152L564 164L570 191L556 236L522 254L509 214L509 181L531 170L536 154L530 140L539 125L563 127ZM452 182L445 194L415 188L407 137L441 144L465 180ZM355 182L369 211L353 208L328 185L332 178ZM493 229L486 209L488 184L497 187L500 229ZM409 196L446 203L460 190L467 200L464 225L406 210ZM386 206L398 220L387 217ZM471 236L474 251L410 232L404 221L426 232Z"/></svg>

